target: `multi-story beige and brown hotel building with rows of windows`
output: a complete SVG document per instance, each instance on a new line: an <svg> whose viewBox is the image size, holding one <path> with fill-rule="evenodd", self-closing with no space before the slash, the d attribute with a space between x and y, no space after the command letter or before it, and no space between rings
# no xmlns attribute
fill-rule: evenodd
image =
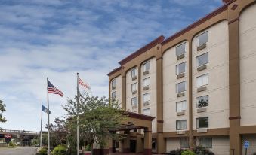
<svg viewBox="0 0 256 155"><path fill-rule="evenodd" d="M120 61L108 74L109 97L126 111L155 117L153 152L202 145L217 155L241 155L249 141L252 154L255 43L256 1L224 0L196 23L169 38L160 36ZM142 130L133 132L143 135Z"/></svg>

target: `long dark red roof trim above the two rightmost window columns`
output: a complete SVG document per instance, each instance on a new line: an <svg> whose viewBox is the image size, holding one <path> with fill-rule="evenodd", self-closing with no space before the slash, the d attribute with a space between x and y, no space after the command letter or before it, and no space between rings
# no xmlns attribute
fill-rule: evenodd
<svg viewBox="0 0 256 155"><path fill-rule="evenodd" d="M232 1L230 1L230 2L232 2ZM212 17L216 16L217 14L221 14L221 12L226 11L227 6L230 4L230 2L221 6L220 8L217 8L215 11L211 12L210 14L207 14L205 17L202 17L200 20L197 20L195 23L191 24L190 26L187 26L185 29L182 29L180 32L177 32L174 35L171 35L171 37L165 39L165 41L162 41L162 45L168 43L171 40L174 40L174 38L177 38L180 35L183 35L184 33L190 31L191 29L195 28L196 26L199 26L200 24L211 19Z"/></svg>

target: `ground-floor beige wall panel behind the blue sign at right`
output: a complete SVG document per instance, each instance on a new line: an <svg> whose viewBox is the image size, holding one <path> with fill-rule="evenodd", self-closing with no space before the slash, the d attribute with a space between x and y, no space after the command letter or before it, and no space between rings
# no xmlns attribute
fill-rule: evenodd
<svg viewBox="0 0 256 155"><path fill-rule="evenodd" d="M242 135L242 144L245 141L250 142L250 147L247 150L247 154L256 153L256 135ZM245 148L242 147L242 155L245 155Z"/></svg>

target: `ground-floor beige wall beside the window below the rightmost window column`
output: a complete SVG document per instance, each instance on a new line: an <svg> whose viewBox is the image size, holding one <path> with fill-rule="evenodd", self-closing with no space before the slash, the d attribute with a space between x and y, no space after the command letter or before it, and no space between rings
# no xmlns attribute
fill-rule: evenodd
<svg viewBox="0 0 256 155"><path fill-rule="evenodd" d="M228 136L214 136L212 138L212 148L210 149L217 155L228 155L230 154L230 139ZM196 138L196 146L198 146L199 137Z"/></svg>

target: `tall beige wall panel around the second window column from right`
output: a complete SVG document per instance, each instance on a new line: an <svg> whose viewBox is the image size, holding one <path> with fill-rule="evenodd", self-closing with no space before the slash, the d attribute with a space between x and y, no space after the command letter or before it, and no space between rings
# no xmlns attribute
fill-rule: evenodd
<svg viewBox="0 0 256 155"><path fill-rule="evenodd" d="M186 53L183 59L177 60L176 46L167 50L163 55L163 132L176 131L176 120L187 120L187 130L189 129L189 106L188 106L188 83L186 84L185 96L177 97L176 84L188 81L188 42L186 42ZM184 44L182 42L181 44ZM177 46L180 44L177 44ZM186 62L185 77L177 79L176 65ZM176 102L187 101L187 111L185 115L177 116Z"/></svg>

